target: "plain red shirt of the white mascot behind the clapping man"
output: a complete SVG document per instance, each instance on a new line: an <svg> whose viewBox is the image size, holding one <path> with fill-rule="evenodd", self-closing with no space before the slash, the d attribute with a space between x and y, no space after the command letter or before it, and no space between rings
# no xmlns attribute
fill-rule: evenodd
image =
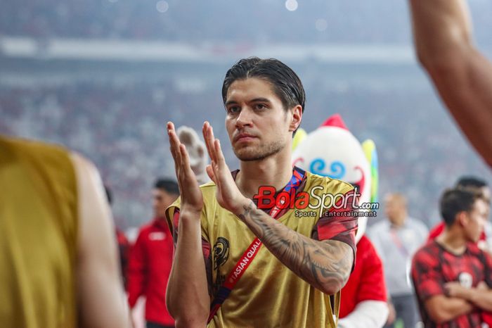
<svg viewBox="0 0 492 328"><path fill-rule="evenodd" d="M347 317L362 301L386 302L386 284L381 259L366 236L362 236L358 241L356 266L342 289L339 317Z"/></svg>

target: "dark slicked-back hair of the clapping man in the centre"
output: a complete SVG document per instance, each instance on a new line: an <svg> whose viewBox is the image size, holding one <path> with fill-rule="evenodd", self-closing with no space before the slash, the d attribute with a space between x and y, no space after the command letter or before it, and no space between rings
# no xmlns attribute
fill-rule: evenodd
<svg viewBox="0 0 492 328"><path fill-rule="evenodd" d="M304 113L306 92L297 74L278 59L260 59L258 57L244 58L235 63L226 72L224 84L222 84L222 99L226 104L226 96L229 87L236 80L246 80L249 77L257 77L272 84L273 92L282 101L284 109L290 109L301 105Z"/></svg>

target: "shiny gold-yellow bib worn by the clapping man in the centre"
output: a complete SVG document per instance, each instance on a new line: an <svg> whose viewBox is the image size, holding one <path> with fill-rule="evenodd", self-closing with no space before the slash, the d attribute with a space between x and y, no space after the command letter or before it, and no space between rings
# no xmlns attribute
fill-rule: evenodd
<svg viewBox="0 0 492 328"><path fill-rule="evenodd" d="M309 172L306 172L301 186L296 192L309 193L316 186L322 189L317 194L347 194L354 189L345 182ZM256 236L236 215L219 206L213 182L200 188L204 199L202 239L211 248L212 291L215 294ZM173 225L177 227L174 214L180 202L181 198L167 209L171 230ZM316 199L310 198L309 202L316 203ZM283 210L278 221L299 234L313 237L320 218L318 212L315 210L316 215L304 216L299 215L299 211L311 209ZM354 236L355 229L342 233ZM355 247L354 242L351 246ZM330 296L295 275L265 246L261 246L250 267L207 327L336 327L339 297L340 292L331 296L330 301Z"/></svg>

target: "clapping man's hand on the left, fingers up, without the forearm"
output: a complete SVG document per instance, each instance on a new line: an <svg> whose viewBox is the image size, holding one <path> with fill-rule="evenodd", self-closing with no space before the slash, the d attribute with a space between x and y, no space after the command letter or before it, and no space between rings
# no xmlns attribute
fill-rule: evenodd
<svg viewBox="0 0 492 328"><path fill-rule="evenodd" d="M167 122L167 134L169 135L169 144L171 154L174 159L174 169L179 184L179 192L181 195L181 210L180 217L198 217L203 208L202 191L198 187L198 181L191 170L190 158L186 151L186 146L181 144L174 129L172 122ZM198 215L197 215L198 214Z"/></svg>

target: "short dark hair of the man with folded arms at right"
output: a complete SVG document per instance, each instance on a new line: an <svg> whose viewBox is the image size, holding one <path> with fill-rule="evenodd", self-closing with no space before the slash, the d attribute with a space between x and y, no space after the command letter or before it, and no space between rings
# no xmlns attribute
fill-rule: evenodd
<svg viewBox="0 0 492 328"><path fill-rule="evenodd" d="M448 189L441 196L441 216L449 227L453 225L456 215L460 212L468 212L473 208L477 199L481 198L479 192L465 189Z"/></svg>

